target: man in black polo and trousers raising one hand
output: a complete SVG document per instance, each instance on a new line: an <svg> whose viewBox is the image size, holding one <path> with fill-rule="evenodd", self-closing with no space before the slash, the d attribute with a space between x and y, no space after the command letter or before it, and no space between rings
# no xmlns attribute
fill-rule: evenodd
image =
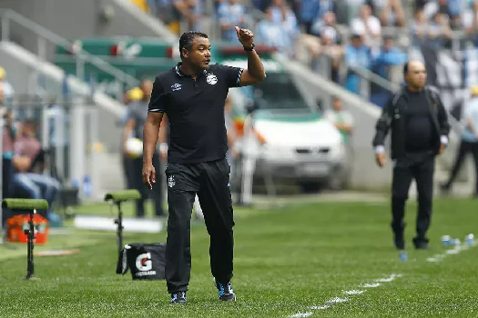
<svg viewBox="0 0 478 318"><path fill-rule="evenodd" d="M143 181L156 182L152 156L159 125L168 114L168 240L166 280L171 303L186 303L191 268L190 218L196 194L210 236L211 273L219 299L233 301L233 211L226 160L228 137L224 105L231 87L257 84L266 78L254 35L236 26L248 56L248 69L209 65L208 35L189 31L179 39L181 63L158 75L144 126Z"/></svg>

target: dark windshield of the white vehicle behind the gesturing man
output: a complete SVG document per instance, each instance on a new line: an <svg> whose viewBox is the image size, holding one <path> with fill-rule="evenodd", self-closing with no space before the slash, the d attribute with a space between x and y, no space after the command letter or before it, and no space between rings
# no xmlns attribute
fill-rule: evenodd
<svg viewBox="0 0 478 318"><path fill-rule="evenodd" d="M310 107L288 73L270 73L265 81L247 88L259 110L293 109L300 113L311 112Z"/></svg>

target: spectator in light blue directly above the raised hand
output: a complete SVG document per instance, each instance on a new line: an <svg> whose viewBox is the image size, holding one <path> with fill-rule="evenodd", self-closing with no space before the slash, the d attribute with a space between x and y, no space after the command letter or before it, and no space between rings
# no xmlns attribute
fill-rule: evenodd
<svg viewBox="0 0 478 318"><path fill-rule="evenodd" d="M229 0L219 3L218 8L221 37L225 41L235 41L238 38L234 26L244 27L246 24L246 7L241 0Z"/></svg>

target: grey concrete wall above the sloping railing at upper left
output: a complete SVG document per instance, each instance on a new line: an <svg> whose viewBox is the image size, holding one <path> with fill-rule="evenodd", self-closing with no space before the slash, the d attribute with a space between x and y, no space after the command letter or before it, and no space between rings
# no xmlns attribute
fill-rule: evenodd
<svg viewBox="0 0 478 318"><path fill-rule="evenodd" d="M102 9L113 13L105 23L100 18ZM171 38L158 20L141 13L125 0L0 0L1 9L10 9L36 22L56 35L65 38L151 36ZM13 24L11 40L36 53L36 35L25 27ZM47 57L53 54L53 45L47 46Z"/></svg>

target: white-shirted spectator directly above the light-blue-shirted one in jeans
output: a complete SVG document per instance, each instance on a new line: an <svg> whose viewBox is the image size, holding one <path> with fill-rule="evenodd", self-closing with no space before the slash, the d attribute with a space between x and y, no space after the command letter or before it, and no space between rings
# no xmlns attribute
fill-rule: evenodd
<svg viewBox="0 0 478 318"><path fill-rule="evenodd" d="M362 5L359 17L351 21L351 32L362 35L365 45L378 47L381 41L381 23L378 17L371 15L371 6Z"/></svg>

